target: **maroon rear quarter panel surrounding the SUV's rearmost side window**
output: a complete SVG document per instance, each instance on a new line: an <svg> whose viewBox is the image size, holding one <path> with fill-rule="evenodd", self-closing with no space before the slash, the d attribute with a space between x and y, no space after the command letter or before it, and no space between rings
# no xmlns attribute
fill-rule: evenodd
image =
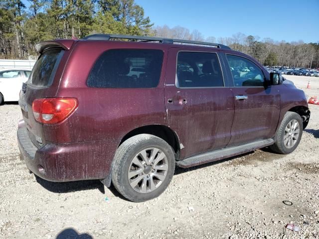
<svg viewBox="0 0 319 239"><path fill-rule="evenodd" d="M94 47L92 47L94 46ZM88 75L97 58L106 50L141 48L163 50L160 83L157 88L91 88ZM69 142L116 139L131 130L150 124L164 124L164 68L167 51L163 44L78 41L62 76L57 97L75 97L79 106L64 122L52 125L48 141ZM52 129L52 128L51 128ZM69 137L65 137L69 136Z"/></svg>

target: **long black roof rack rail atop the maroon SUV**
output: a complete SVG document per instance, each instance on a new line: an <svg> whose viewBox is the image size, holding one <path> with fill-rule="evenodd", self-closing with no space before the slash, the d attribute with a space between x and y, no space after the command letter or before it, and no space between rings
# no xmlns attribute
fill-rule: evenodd
<svg viewBox="0 0 319 239"><path fill-rule="evenodd" d="M172 38L163 38L163 37L154 37L154 36L131 36L131 35L116 35L116 34L93 34L88 35L82 38L83 40L105 40L108 41L110 39L132 39L132 40L141 40L144 42L148 41L159 41L161 43L173 44L174 42L178 43L187 43L187 44L197 44L197 45L207 45L207 46L216 46L218 48L231 49L228 46L218 44L218 43L210 43L204 41L191 41L191 40L182 40L182 39L172 39Z"/></svg>

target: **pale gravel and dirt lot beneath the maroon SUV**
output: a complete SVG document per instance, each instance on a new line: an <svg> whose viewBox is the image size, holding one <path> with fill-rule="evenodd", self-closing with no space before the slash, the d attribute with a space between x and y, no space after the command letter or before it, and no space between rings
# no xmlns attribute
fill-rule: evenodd
<svg viewBox="0 0 319 239"><path fill-rule="evenodd" d="M319 78L286 77L308 96L319 96ZM305 89L309 79L312 89ZM99 181L35 178L19 160L19 107L0 106L0 238L319 239L319 106L310 110L292 154L263 149L177 168L159 198L132 203ZM289 222L300 232L285 229Z"/></svg>

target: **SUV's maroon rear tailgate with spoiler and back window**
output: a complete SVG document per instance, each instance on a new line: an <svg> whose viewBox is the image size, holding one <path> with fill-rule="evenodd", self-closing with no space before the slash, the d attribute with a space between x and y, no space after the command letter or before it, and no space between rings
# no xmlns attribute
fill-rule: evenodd
<svg viewBox="0 0 319 239"><path fill-rule="evenodd" d="M38 98L56 97L60 78L68 59L68 50L72 43L73 40L60 40L38 44L37 50L40 52L40 56L32 69L28 81L23 84L20 91L19 106L29 138L37 148L45 145L46 141L43 133L43 124L34 119L32 102Z"/></svg>

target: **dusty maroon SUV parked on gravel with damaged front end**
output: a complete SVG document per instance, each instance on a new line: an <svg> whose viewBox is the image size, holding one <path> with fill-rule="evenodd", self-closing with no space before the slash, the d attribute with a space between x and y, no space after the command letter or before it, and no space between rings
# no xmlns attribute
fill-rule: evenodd
<svg viewBox="0 0 319 239"><path fill-rule="evenodd" d="M302 90L221 44L95 34L37 51L17 137L28 169L49 181L100 179L146 201L175 165L294 151L310 118Z"/></svg>

